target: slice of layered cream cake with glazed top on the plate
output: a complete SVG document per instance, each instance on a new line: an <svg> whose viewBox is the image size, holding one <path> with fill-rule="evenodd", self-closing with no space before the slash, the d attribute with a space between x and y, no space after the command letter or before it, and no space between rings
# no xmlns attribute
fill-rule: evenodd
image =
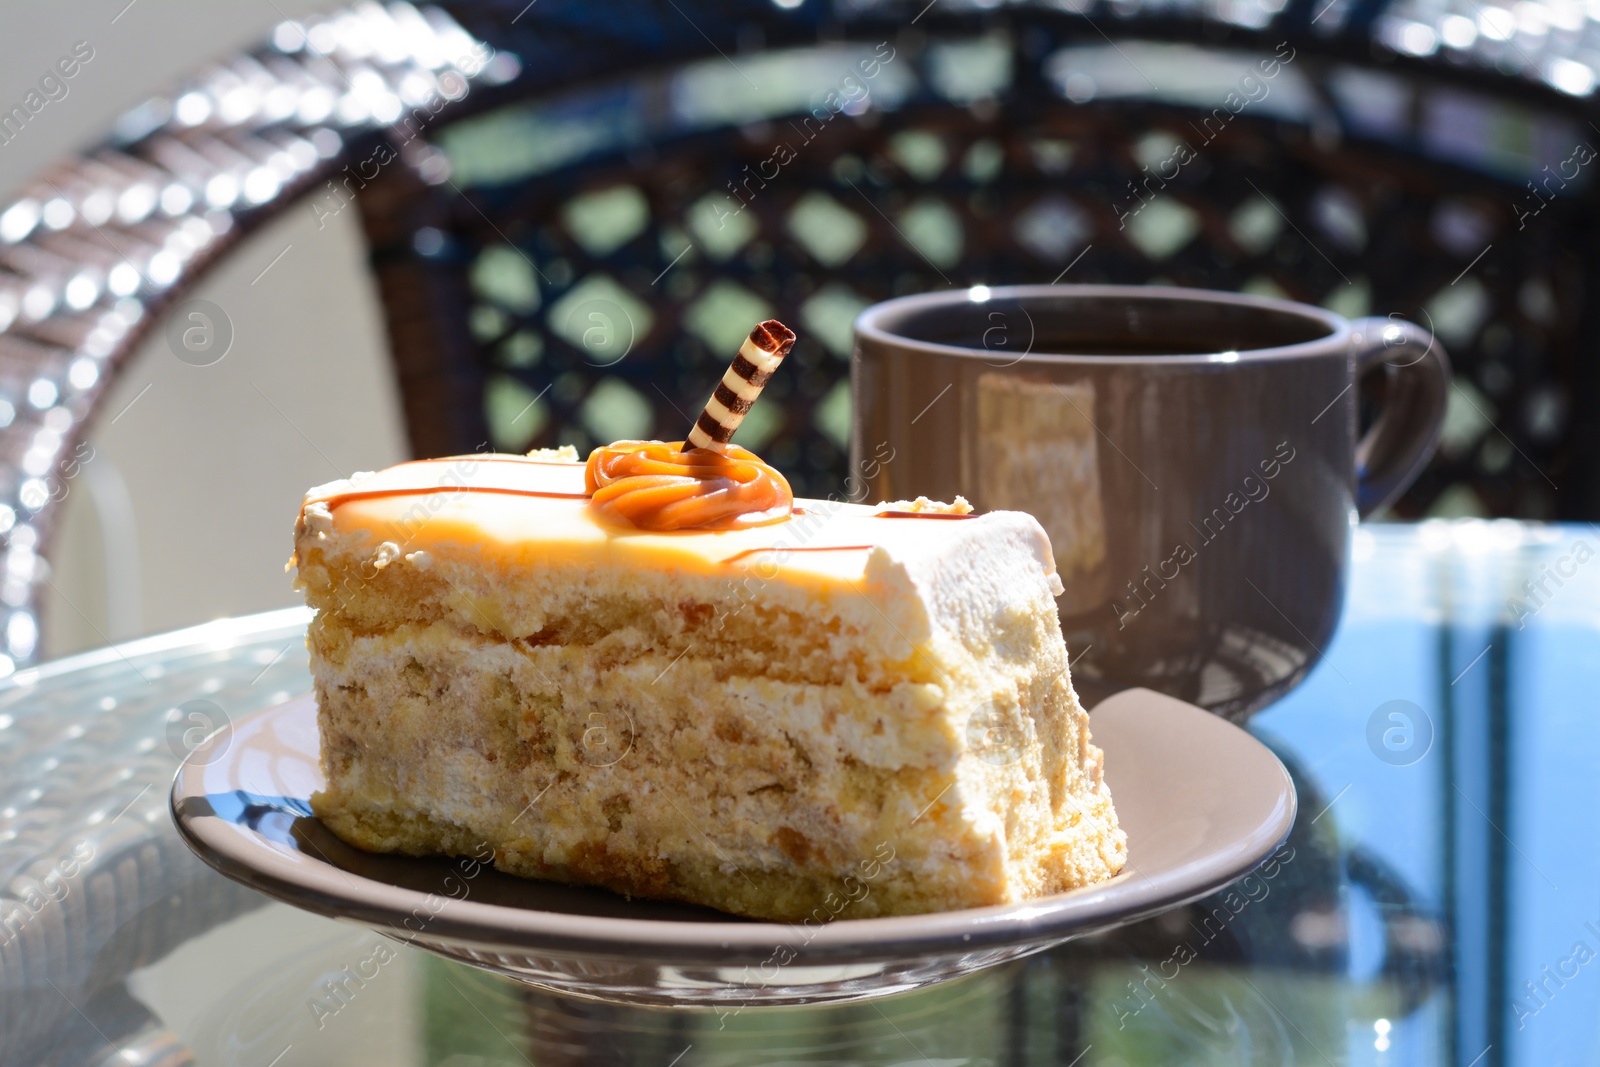
<svg viewBox="0 0 1600 1067"><path fill-rule="evenodd" d="M1032 517L757 494L758 522L640 528L682 502L674 450L410 462L306 496L291 566L334 833L790 921L1117 873ZM626 477L656 496L619 499Z"/></svg>

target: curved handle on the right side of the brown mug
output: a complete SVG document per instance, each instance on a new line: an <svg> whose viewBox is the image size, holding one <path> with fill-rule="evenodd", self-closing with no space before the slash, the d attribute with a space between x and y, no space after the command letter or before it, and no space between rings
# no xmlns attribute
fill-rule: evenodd
<svg viewBox="0 0 1600 1067"><path fill-rule="evenodd" d="M1432 333L1403 318L1352 323L1355 378L1384 366L1378 422L1355 443L1355 507L1366 518L1392 504L1427 466L1445 426L1450 357Z"/></svg>

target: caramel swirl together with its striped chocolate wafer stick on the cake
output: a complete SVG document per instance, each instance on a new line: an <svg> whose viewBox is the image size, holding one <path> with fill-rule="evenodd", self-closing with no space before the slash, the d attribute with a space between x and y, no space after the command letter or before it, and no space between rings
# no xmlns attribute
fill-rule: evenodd
<svg viewBox="0 0 1600 1067"><path fill-rule="evenodd" d="M616 442L589 453L590 506L637 530L742 530L789 518L789 482L730 445L795 334L766 320L750 331L685 442Z"/></svg>

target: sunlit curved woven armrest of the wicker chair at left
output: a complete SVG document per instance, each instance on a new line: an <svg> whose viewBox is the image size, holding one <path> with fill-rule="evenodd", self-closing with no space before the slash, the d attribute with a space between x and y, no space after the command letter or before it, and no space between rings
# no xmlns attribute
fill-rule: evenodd
<svg viewBox="0 0 1600 1067"><path fill-rule="evenodd" d="M181 358L221 358L219 323L166 320L208 267L379 144L426 171L422 142L400 147L395 131L515 74L437 8L285 22L0 200L0 677L37 654L59 502L138 344L168 330ZM0 112L0 142L27 122L26 107Z"/></svg>

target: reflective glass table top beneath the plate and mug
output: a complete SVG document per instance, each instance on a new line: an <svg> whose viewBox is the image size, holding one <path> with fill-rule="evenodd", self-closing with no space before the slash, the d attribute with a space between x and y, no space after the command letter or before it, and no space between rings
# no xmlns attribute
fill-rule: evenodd
<svg viewBox="0 0 1600 1067"><path fill-rule="evenodd" d="M178 840L178 761L310 686L306 613L0 686L0 1064L1555 1064L1600 1056L1600 534L1363 526L1250 729L1299 821L1205 901L819 1008L555 997L275 904ZM221 731L221 733L218 733Z"/></svg>

